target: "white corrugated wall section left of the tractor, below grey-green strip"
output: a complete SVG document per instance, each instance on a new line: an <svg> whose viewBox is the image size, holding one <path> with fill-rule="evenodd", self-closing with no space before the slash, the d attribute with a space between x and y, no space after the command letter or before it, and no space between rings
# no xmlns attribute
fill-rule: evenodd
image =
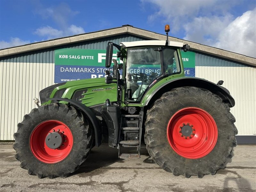
<svg viewBox="0 0 256 192"><path fill-rule="evenodd" d="M0 140L14 140L17 124L36 107L33 98L52 84L53 63L0 62Z"/></svg>

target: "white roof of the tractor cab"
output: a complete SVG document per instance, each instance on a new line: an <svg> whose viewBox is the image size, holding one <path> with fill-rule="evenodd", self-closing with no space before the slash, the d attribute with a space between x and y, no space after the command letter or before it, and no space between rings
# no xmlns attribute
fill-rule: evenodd
<svg viewBox="0 0 256 192"><path fill-rule="evenodd" d="M132 42L121 42L120 45L122 47L137 47L137 46L165 46L166 41L160 40L148 40L148 41L132 41ZM168 46L173 47L182 47L183 43L169 41Z"/></svg>

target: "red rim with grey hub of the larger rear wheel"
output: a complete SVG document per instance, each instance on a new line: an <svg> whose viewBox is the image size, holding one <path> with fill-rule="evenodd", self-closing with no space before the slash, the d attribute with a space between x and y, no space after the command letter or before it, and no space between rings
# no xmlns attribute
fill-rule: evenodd
<svg viewBox="0 0 256 192"><path fill-rule="evenodd" d="M198 159L214 148L218 129L212 116L200 108L183 108L170 119L167 138L172 149L185 158Z"/></svg>

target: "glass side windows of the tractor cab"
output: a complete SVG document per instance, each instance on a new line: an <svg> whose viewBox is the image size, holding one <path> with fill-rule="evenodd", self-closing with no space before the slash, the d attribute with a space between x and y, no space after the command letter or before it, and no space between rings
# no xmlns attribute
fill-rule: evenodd
<svg viewBox="0 0 256 192"><path fill-rule="evenodd" d="M147 87L162 73L180 73L177 50L166 47L127 49L125 100L140 102ZM128 99L128 91L132 99Z"/></svg>

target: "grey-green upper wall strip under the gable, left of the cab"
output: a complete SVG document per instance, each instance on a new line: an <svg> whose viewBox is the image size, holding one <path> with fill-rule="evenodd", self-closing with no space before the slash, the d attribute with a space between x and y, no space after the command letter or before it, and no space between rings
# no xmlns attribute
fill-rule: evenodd
<svg viewBox="0 0 256 192"><path fill-rule="evenodd" d="M61 48L72 48L72 49L106 49L109 41L119 44L119 42L124 41L142 41L148 40L146 38L123 34L117 36L110 36L106 38L99 38L89 41L82 41L79 43L66 44L61 46L56 46L47 49L41 49L37 51L24 52L16 55L10 55L0 58L0 61L4 62L21 62L21 63L54 63L54 50ZM116 50L116 48L114 47Z"/></svg>

